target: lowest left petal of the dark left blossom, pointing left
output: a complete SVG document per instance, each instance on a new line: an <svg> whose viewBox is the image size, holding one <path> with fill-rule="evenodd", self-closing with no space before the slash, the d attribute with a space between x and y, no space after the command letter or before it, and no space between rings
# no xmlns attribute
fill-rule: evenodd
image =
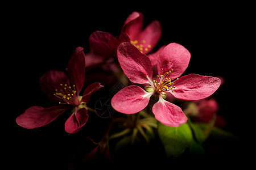
<svg viewBox="0 0 256 170"><path fill-rule="evenodd" d="M69 107L63 105L48 108L33 106L28 108L23 114L20 114L20 116L16 118L16 123L27 129L39 128L51 123L68 108Z"/></svg>

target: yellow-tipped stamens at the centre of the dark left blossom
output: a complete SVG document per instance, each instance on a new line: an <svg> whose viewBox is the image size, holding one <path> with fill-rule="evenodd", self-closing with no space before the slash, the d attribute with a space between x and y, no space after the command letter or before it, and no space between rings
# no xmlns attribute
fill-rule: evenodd
<svg viewBox="0 0 256 170"><path fill-rule="evenodd" d="M54 96L62 99L59 104L71 104L71 105L79 105L79 97L75 91L75 85L73 87L68 86L68 84L60 84L61 88L55 89L56 93L53 94Z"/></svg>

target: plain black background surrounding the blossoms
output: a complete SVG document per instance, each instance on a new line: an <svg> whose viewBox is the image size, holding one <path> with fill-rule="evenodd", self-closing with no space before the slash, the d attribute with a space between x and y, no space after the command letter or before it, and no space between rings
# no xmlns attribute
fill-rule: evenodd
<svg viewBox="0 0 256 170"><path fill-rule="evenodd" d="M15 118L32 105L51 105L40 91L40 76L51 69L65 71L77 46L84 47L85 53L89 52L88 38L93 31L118 36L123 22L133 11L143 13L144 25L154 19L161 23L163 33L155 49L177 42L189 50L191 61L183 75L195 73L225 79L213 97L220 105L218 113L228 122L224 129L237 135L239 140L225 143L221 146L220 154L212 158L224 154L240 160L245 156L243 151L252 141L246 132L250 129L249 120L253 120L250 117L252 113L247 111L250 107L247 101L250 99L243 93L248 92L245 82L249 72L245 71L243 61L253 62L253 58L245 54L250 43L249 5L146 3L149 2L138 6L135 2L129 2L131 7L100 2L75 5L27 3L11 8L7 42L11 72L4 86L9 88L8 114L12 116L11 146L8 146L10 150L6 156L11 164L35 169L65 169L72 156L93 146L86 137L100 139L101 135L98 134L104 133L108 120L93 114L89 114L91 120L89 118L88 124L77 134L65 133L64 123L69 114L63 114L51 124L33 130L19 127ZM96 94L100 95L100 92ZM213 162L220 160L214 159ZM233 164L238 162L234 161Z"/></svg>

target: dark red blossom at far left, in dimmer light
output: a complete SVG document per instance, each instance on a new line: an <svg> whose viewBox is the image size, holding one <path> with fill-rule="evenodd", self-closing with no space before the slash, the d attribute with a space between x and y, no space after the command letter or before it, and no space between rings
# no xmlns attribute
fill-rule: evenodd
<svg viewBox="0 0 256 170"><path fill-rule="evenodd" d="M27 129L39 128L55 120L67 109L75 108L65 122L65 131L77 133L82 129L89 117L86 103L94 92L104 87L100 83L92 83L85 88L82 96L79 95L85 79L85 54L82 50L81 47L76 48L69 59L68 75L62 71L50 70L40 78L42 91L47 93L49 100L58 101L59 105L48 108L35 105L28 108L16 118L19 126Z"/></svg>

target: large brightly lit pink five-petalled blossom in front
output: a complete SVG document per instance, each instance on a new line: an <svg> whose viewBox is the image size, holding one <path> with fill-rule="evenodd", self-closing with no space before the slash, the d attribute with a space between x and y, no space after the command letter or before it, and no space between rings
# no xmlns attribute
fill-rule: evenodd
<svg viewBox="0 0 256 170"><path fill-rule="evenodd" d="M121 113L133 114L142 111L151 96L159 97L152 112L156 120L167 126L177 127L187 122L180 107L164 100L172 94L181 100L199 100L212 95L220 86L220 79L212 76L189 74L181 76L187 69L191 54L182 45L168 44L158 57L158 76L152 80L150 58L134 45L122 43L117 51L118 61L131 82L150 84L145 90L139 86L123 88L112 98L112 107Z"/></svg>

